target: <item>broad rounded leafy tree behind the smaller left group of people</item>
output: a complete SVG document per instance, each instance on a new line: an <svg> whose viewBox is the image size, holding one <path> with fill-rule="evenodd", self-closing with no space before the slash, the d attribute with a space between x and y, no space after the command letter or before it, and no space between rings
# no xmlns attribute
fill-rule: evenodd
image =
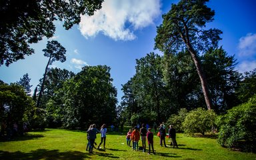
<svg viewBox="0 0 256 160"><path fill-rule="evenodd" d="M59 91L63 93L64 127L113 123L117 90L112 85L109 71L105 65L85 66L75 77L65 81Z"/></svg>

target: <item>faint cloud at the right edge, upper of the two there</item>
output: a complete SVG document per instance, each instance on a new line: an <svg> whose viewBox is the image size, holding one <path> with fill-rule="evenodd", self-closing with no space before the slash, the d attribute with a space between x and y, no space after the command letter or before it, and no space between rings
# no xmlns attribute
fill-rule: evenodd
<svg viewBox="0 0 256 160"><path fill-rule="evenodd" d="M239 39L239 56L256 55L256 33L248 33Z"/></svg>

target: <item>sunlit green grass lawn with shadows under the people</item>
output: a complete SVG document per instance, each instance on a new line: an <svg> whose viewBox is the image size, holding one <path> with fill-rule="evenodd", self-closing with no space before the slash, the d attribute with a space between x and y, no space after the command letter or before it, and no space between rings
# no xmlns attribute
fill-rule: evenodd
<svg viewBox="0 0 256 160"><path fill-rule="evenodd" d="M108 133L105 149L93 149L93 154L85 151L86 133L65 129L45 129L29 132L11 141L0 141L0 159L256 159L255 153L241 153L226 149L211 137L185 137L177 134L179 149L159 145L159 137L154 137L156 154L147 155L133 151L126 145L126 132ZM96 143L100 142L97 135ZM170 143L166 139L167 144ZM103 145L101 145L103 147ZM139 141L141 146L141 141Z"/></svg>

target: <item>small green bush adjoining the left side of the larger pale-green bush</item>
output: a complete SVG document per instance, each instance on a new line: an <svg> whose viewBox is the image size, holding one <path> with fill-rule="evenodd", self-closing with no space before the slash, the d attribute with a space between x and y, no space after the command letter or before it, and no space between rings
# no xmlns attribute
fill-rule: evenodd
<svg viewBox="0 0 256 160"><path fill-rule="evenodd" d="M182 123L187 116L187 109L181 108L177 115L173 114L167 120L167 125L174 125L177 132L183 132Z"/></svg>

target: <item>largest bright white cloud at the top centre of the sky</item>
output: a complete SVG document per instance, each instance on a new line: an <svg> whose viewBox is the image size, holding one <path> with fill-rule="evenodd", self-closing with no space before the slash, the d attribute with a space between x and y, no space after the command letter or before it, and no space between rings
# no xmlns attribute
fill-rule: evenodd
<svg viewBox="0 0 256 160"><path fill-rule="evenodd" d="M105 0L93 16L81 16L79 29L85 38L101 32L115 41L133 40L133 31L153 24L160 13L160 0Z"/></svg>

